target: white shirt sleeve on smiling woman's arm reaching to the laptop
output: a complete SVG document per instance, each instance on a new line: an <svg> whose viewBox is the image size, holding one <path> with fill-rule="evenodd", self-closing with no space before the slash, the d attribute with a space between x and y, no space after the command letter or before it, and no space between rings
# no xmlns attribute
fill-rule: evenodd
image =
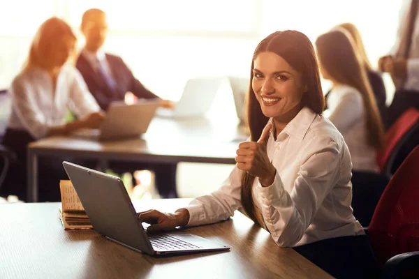
<svg viewBox="0 0 419 279"><path fill-rule="evenodd" d="M189 211L188 226L205 225L226 220L241 206L242 170L235 167L219 190L193 199L185 208Z"/></svg>

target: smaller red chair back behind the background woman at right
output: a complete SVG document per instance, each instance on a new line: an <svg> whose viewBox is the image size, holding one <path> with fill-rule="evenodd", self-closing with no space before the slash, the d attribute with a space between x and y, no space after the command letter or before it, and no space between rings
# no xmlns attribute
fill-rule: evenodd
<svg viewBox="0 0 419 279"><path fill-rule="evenodd" d="M419 97L418 97L419 98ZM400 143L411 132L415 124L419 122L419 111L411 107L406 110L402 116L397 119L395 123L385 132L385 146L381 153L377 153L376 160L380 172L385 174L390 159L395 157L397 153L397 147L400 147ZM413 132L413 131L412 131Z"/></svg>

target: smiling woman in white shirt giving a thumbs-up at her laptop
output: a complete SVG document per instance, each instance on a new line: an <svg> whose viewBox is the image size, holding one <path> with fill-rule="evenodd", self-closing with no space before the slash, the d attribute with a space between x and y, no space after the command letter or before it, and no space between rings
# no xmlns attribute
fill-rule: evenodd
<svg viewBox="0 0 419 279"><path fill-rule="evenodd" d="M374 274L374 255L351 209L351 157L321 115L324 98L307 36L279 31L260 42L248 100L251 137L239 145L223 186L175 213L139 213L140 220L152 224L149 232L166 231L226 220L242 208L278 246L293 247L332 276Z"/></svg>

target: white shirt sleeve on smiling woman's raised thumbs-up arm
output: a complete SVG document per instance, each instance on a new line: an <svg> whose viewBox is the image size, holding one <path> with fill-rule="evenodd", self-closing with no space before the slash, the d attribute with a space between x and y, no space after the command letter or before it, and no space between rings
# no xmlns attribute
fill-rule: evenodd
<svg viewBox="0 0 419 279"><path fill-rule="evenodd" d="M330 137L314 137L310 148L302 157L293 190L284 189L277 173L274 183L268 187L260 186L260 206L267 229L279 246L292 247L302 239L316 211L337 183L337 167L341 154L336 142Z"/></svg>

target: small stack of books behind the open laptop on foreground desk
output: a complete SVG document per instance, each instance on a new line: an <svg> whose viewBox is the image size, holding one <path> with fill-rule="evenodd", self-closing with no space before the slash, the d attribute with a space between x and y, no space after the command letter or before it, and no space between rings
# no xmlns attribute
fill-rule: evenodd
<svg viewBox="0 0 419 279"><path fill-rule="evenodd" d="M89 217L87 217L71 181L61 180L59 189L61 191L59 219L64 229L92 229Z"/></svg>

